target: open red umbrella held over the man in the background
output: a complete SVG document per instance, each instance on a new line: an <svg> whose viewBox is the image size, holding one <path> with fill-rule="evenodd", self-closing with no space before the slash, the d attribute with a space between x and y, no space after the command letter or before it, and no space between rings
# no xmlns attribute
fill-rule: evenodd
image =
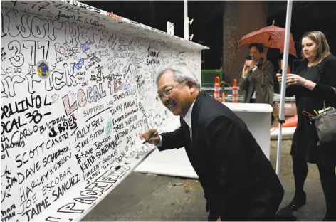
<svg viewBox="0 0 336 222"><path fill-rule="evenodd" d="M272 25L261 28L258 31L248 33L238 41L238 47L251 43L263 43L266 47L278 48L280 49L280 52L283 53L285 45L285 28ZM294 38L292 34L290 34L289 53L295 57L298 57L296 56Z"/></svg>

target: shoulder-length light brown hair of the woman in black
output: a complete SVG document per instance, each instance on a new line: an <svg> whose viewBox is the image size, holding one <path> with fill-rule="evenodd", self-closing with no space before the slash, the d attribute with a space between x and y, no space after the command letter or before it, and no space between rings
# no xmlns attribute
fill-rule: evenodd
<svg viewBox="0 0 336 222"><path fill-rule="evenodd" d="M309 31L303 34L301 38L301 43L303 38L309 38L311 41L316 43L316 57L315 61L322 60L323 58L330 55L330 47L327 42L327 38L325 38L325 34L322 33L322 31ZM302 50L301 50L301 56L304 60L307 60L305 56L303 56Z"/></svg>

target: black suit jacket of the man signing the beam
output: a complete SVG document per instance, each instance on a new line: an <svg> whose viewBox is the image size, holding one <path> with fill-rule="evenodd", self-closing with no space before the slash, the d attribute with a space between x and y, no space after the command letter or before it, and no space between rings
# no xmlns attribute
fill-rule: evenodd
<svg viewBox="0 0 336 222"><path fill-rule="evenodd" d="M275 213L283 187L243 120L213 97L199 93L188 125L162 133L162 147L185 147L204 189L210 213L222 221L256 221Z"/></svg>

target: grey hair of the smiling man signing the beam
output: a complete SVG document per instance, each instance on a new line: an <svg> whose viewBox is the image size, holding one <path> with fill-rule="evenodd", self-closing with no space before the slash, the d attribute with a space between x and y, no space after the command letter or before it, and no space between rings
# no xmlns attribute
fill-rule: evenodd
<svg viewBox="0 0 336 222"><path fill-rule="evenodd" d="M197 80L196 75L187 67L187 65L167 65L157 74L157 81L167 70L172 71L174 74L174 80L177 82L182 83L185 80L191 80L194 82L196 88L201 88L201 84L199 84L199 80Z"/></svg>

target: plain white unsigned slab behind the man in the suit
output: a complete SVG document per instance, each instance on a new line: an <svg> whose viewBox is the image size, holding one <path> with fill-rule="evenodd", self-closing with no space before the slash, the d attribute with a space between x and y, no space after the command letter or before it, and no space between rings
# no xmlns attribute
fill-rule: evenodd
<svg viewBox="0 0 336 222"><path fill-rule="evenodd" d="M266 157L270 157L271 143L271 105L248 104L248 103L224 103L229 109L238 115L247 125L248 129L256 138ZM179 117L172 121L172 130L179 127ZM159 152L156 149L137 168L137 172L161 174L167 176L180 176L198 178L192 168L184 148L172 149Z"/></svg>

